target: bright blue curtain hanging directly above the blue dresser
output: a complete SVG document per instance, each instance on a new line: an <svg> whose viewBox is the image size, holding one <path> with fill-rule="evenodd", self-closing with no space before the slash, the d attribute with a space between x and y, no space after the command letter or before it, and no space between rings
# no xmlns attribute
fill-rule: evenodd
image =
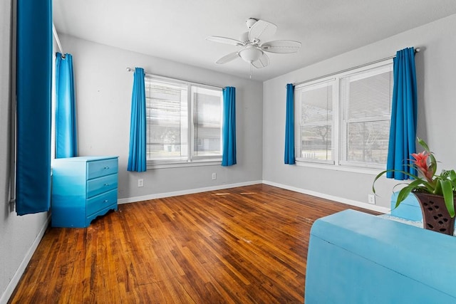
<svg viewBox="0 0 456 304"><path fill-rule="evenodd" d="M56 53L56 158L78 155L73 56Z"/></svg>

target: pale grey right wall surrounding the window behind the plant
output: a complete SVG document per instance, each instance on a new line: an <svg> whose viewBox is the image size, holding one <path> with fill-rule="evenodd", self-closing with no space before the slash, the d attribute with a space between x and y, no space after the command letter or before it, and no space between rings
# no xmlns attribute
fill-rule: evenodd
<svg viewBox="0 0 456 304"><path fill-rule="evenodd" d="M400 33L340 56L264 82L263 179L271 184L301 192L331 196L339 201L367 203L374 174L331 169L297 167L284 164L286 83L299 83L356 65L395 55L414 46L418 81L418 137L422 137L440 160L440 169L456 167L456 15ZM356 37L354 37L356 38ZM417 149L419 151L420 147ZM438 169L438 168L437 168ZM439 171L440 171L439 169ZM390 206L390 194L396 182L379 180L378 206Z"/></svg>

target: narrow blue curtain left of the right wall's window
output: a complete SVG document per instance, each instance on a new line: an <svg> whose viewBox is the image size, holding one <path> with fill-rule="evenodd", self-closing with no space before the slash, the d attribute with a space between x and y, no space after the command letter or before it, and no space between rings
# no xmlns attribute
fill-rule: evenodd
<svg viewBox="0 0 456 304"><path fill-rule="evenodd" d="M294 164L294 85L286 85L285 164Z"/></svg>

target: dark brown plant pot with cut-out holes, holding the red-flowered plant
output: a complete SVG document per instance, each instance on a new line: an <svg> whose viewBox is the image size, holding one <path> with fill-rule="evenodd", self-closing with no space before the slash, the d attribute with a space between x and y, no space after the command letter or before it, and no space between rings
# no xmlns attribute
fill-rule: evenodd
<svg viewBox="0 0 456 304"><path fill-rule="evenodd" d="M455 219L448 213L443 196L413 192L421 206L423 214L423 228L448 234L455 232Z"/></svg>

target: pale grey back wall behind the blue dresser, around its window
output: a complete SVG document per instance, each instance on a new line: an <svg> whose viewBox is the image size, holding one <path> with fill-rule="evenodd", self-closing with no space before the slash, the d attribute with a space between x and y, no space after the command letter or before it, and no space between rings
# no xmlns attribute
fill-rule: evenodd
<svg viewBox="0 0 456 304"><path fill-rule="evenodd" d="M118 155L120 201L135 201L210 187L261 182L262 83L133 53L73 36L60 36L73 55L80 155ZM133 73L146 73L236 88L237 164L127 172ZM247 73L246 73L247 76ZM217 179L212 180L212 172ZM138 187L138 178L144 187Z"/></svg>

